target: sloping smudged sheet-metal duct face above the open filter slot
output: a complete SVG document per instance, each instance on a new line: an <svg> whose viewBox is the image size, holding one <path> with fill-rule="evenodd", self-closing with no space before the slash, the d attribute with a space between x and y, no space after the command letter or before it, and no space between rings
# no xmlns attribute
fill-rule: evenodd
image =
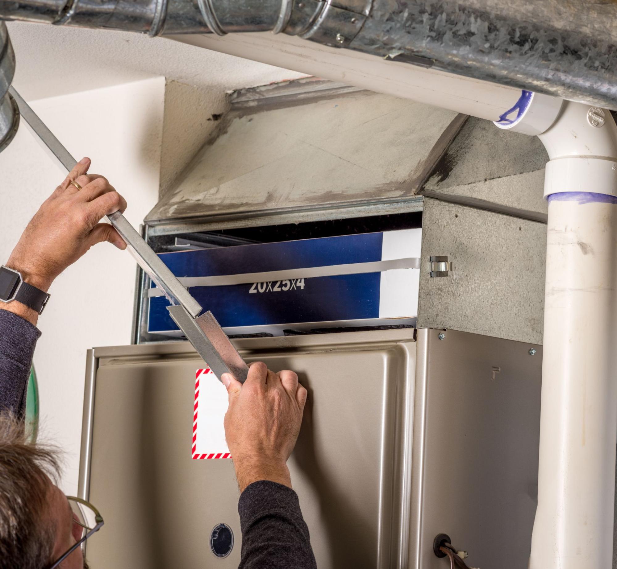
<svg viewBox="0 0 617 569"><path fill-rule="evenodd" d="M296 83L304 93L281 85L238 100L146 223L273 215L291 223L311 211L325 219L332 210L340 218L341 210L368 204L410 200L413 207L460 128L450 126L457 114L370 91Z"/></svg>

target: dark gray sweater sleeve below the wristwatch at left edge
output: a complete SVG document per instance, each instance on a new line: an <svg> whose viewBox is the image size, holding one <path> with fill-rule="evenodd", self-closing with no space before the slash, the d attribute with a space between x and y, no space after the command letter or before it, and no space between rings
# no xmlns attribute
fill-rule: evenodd
<svg viewBox="0 0 617 569"><path fill-rule="evenodd" d="M32 356L39 329L7 310L0 310L0 412L22 417Z"/></svg>

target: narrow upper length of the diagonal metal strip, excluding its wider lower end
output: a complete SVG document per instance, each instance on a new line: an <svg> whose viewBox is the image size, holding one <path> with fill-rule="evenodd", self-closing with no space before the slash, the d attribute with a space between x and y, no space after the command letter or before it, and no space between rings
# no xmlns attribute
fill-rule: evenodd
<svg viewBox="0 0 617 569"><path fill-rule="evenodd" d="M51 152L52 157L56 158L67 171L73 170L77 160L65 149L64 145L54 136L13 87L9 89L9 92L17 101L23 119L47 147L49 152ZM201 313L201 305L183 287L173 272L160 260L159 256L152 251L152 248L142 239L141 235L135 230L135 227L128 222L128 219L120 211L108 215L107 219L115 227L120 237L125 240L128 250L135 257L139 266L146 271L157 287L165 293L168 300L174 305L184 306L191 316L197 316L197 314Z"/></svg>

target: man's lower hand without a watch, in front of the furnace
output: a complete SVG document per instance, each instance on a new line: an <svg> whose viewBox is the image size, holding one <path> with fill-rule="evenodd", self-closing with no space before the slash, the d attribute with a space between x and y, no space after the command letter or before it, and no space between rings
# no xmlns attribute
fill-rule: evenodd
<svg viewBox="0 0 617 569"><path fill-rule="evenodd" d="M272 372L251 364L244 385L230 374L222 378L229 395L225 438L240 491L258 480L291 488L287 459L296 446L307 390L292 371Z"/></svg>

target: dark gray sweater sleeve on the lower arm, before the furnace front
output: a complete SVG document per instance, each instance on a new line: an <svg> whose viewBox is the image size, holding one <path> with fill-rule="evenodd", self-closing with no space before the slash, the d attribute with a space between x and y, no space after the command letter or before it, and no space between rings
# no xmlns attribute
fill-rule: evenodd
<svg viewBox="0 0 617 569"><path fill-rule="evenodd" d="M287 486L261 480L238 502L242 559L238 569L317 569L298 495Z"/></svg>

